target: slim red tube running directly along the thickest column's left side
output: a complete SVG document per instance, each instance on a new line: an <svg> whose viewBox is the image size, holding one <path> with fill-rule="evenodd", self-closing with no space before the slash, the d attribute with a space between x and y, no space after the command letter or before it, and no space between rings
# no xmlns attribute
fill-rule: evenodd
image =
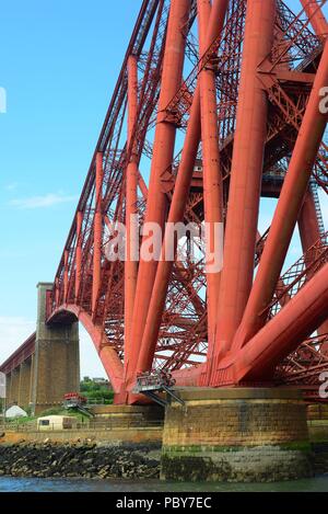
<svg viewBox="0 0 328 514"><path fill-rule="evenodd" d="M200 56L208 49L208 27L211 15L211 1L198 0L199 49ZM216 325L218 299L220 290L220 271L211 270L215 252L215 224L223 224L223 191L220 168L219 121L216 105L216 85L214 68L209 65L200 77L200 115L203 165L204 221L208 228L207 240L207 307L208 339L213 344ZM219 259L219 255L215 256Z"/></svg>

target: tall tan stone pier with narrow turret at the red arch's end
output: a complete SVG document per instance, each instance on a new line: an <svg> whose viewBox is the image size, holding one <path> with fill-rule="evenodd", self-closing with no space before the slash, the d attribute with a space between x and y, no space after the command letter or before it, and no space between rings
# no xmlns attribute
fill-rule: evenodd
<svg viewBox="0 0 328 514"><path fill-rule="evenodd" d="M79 324L46 324L46 292L52 284L38 284L38 312L33 364L32 410L38 414L60 407L66 392L80 389Z"/></svg>

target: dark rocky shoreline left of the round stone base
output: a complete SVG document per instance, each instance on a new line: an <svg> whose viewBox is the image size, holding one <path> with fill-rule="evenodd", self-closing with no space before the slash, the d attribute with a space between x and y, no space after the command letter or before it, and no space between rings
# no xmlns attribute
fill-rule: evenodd
<svg viewBox="0 0 328 514"><path fill-rule="evenodd" d="M159 479L159 444L31 443L0 445L0 476Z"/></svg>

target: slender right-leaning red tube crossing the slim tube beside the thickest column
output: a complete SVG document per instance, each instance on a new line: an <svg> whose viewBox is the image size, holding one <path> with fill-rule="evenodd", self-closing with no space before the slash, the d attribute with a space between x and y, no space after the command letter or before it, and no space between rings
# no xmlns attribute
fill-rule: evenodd
<svg viewBox="0 0 328 514"><path fill-rule="evenodd" d="M213 3L208 30L208 47L222 32L227 3L227 0L215 0L215 2ZM192 100L190 117L188 121L187 133L181 155L181 162L178 169L173 192L173 198L167 220L169 224L177 224L184 220L184 213L192 180L192 172L199 141L200 90L198 83ZM171 232L166 229L163 244L164 248L165 241L169 238ZM164 253L162 251L162 258L163 256ZM156 272L145 329L142 338L142 344L137 367L138 372L147 372L152 367L172 269L172 261L161 259Z"/></svg>

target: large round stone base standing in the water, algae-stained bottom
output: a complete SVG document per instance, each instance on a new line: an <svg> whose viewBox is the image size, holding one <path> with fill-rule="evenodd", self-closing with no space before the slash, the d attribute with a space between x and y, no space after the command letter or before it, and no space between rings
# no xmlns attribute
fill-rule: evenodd
<svg viewBox="0 0 328 514"><path fill-rule="evenodd" d="M280 388L178 389L166 409L162 480L269 482L313 475L306 406Z"/></svg>

